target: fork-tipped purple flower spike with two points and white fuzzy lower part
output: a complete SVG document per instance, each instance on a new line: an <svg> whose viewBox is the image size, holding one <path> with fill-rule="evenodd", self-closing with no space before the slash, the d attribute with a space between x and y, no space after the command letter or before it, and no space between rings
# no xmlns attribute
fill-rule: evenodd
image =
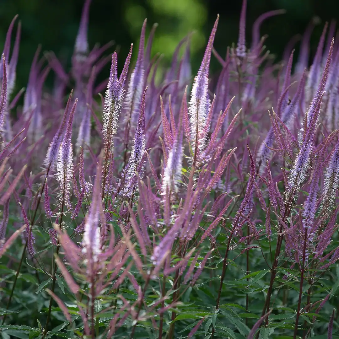
<svg viewBox="0 0 339 339"><path fill-rule="evenodd" d="M121 111L121 104L124 95L124 86L128 72L129 62L131 61L132 47L129 49L127 59L123 71L118 79L118 56L114 52L112 56L111 71L109 72L109 80L107 84L104 117L103 117L103 136L105 139L105 148L111 149L113 147L114 135L117 133L117 126L119 114Z"/></svg>

